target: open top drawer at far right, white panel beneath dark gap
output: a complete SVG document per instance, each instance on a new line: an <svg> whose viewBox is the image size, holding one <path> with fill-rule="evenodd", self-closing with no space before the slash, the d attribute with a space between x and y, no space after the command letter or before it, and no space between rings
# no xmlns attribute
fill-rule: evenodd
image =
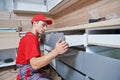
<svg viewBox="0 0 120 80"><path fill-rule="evenodd" d="M120 48L119 26L87 29L88 44Z"/></svg>

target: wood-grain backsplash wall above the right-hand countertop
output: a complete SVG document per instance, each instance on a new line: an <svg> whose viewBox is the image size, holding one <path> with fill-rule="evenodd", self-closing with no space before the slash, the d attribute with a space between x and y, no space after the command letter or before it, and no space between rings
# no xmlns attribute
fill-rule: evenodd
<svg viewBox="0 0 120 80"><path fill-rule="evenodd" d="M80 0L54 15L55 28L86 24L92 18L89 12L95 9L97 10L95 14L98 14L99 17L116 14L116 17L119 18L119 3L120 0Z"/></svg>

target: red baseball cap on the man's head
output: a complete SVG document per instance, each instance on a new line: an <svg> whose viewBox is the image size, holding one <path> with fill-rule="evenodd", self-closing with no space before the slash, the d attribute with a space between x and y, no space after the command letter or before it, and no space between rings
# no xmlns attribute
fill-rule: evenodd
<svg viewBox="0 0 120 80"><path fill-rule="evenodd" d="M36 14L35 16L33 16L31 23L33 23L34 21L45 21L48 25L51 25L53 22L50 19L47 19L44 15L42 14Z"/></svg>

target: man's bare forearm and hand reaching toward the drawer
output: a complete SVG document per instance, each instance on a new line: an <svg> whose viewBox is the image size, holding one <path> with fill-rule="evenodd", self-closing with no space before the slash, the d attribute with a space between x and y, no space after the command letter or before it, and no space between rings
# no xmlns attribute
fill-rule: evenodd
<svg viewBox="0 0 120 80"><path fill-rule="evenodd" d="M67 50L68 50L67 42L59 39L56 43L55 48L51 52L49 52L49 54L31 58L30 64L34 70L37 70L50 63L53 58L55 58L59 54L65 53Z"/></svg>

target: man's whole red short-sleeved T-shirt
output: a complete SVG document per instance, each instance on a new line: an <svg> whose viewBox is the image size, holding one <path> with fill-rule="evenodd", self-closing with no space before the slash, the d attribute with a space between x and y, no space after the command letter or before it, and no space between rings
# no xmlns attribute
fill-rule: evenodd
<svg viewBox="0 0 120 80"><path fill-rule="evenodd" d="M16 64L29 64L31 58L40 56L38 37L32 32L26 33L19 43Z"/></svg>

